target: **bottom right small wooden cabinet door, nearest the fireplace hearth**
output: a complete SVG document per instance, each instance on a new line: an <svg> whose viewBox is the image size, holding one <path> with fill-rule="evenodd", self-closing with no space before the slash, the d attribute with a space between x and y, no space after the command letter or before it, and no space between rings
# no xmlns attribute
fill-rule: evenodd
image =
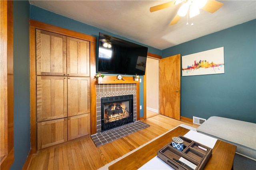
<svg viewBox="0 0 256 170"><path fill-rule="evenodd" d="M90 113L68 117L68 140L90 134Z"/></svg>

